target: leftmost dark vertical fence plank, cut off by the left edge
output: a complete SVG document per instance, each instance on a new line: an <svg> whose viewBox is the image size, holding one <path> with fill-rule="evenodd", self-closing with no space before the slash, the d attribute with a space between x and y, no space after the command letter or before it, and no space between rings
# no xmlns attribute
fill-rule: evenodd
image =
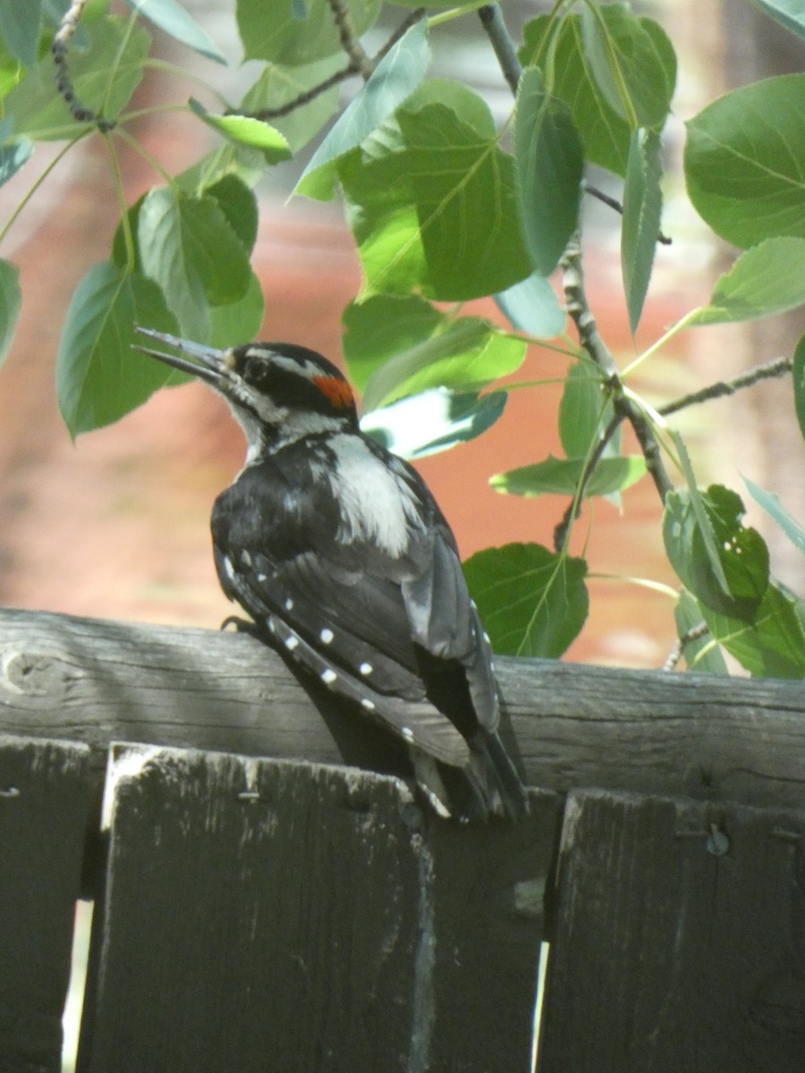
<svg viewBox="0 0 805 1073"><path fill-rule="evenodd" d="M89 750L0 738L0 1070L61 1069Z"/></svg>

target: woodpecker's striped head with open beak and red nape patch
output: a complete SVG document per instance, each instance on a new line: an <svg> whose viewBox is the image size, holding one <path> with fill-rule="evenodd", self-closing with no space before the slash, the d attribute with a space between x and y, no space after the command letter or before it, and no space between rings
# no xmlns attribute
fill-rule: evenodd
<svg viewBox="0 0 805 1073"><path fill-rule="evenodd" d="M303 436L357 428L352 388L314 350L289 342L216 350L150 328L137 332L178 353L138 350L192 373L226 399L246 433L250 458Z"/></svg>

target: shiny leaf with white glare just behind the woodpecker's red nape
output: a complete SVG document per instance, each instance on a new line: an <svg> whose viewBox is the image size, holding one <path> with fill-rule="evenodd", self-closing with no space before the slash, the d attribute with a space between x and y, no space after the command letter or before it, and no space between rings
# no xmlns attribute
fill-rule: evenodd
<svg viewBox="0 0 805 1073"><path fill-rule="evenodd" d="M361 418L361 429L400 458L424 458L473 440L506 408L506 392L482 395L434 387Z"/></svg>

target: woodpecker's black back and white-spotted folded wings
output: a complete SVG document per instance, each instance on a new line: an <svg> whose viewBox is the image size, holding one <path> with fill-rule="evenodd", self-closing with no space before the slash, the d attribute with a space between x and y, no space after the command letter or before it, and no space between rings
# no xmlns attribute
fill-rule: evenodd
<svg viewBox="0 0 805 1073"><path fill-rule="evenodd" d="M309 443L291 445L219 497L219 578L309 672L409 744L464 767L468 738L498 721L478 614L452 533L419 475L374 444L366 450L415 509L399 554L360 534L345 540L333 459L324 445L318 455Z"/></svg>

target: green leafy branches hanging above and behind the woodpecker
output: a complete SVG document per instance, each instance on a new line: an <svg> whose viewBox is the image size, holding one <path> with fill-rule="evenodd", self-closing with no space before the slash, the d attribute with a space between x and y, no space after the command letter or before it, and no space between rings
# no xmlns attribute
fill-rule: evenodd
<svg viewBox="0 0 805 1073"><path fill-rule="evenodd" d="M755 2L805 36L800 5ZM555 4L525 27L516 54L522 71L500 26L487 27L512 88L511 112L496 120L466 86L428 77L431 45L439 46L431 28L474 18L473 10L444 11L450 5L438 0L425 3L425 17L413 3L392 9L399 28L371 56L363 35L371 30L378 41L380 0L272 0L270 17L264 0L237 0L245 56L260 65L252 85L239 102L222 104L213 87L178 104L220 144L182 175L162 175L129 206L119 193L117 153L120 139L136 145L130 100L149 63L150 30L225 62L179 0L129 6L131 17L121 18L96 0L56 78L48 46L59 5L0 0L0 182L28 165L36 142L63 141L67 151L96 136L106 143L120 199L109 258L88 266L62 329L57 389L71 435L115 421L182 379L132 352L135 324L218 347L258 332L263 297L250 265L252 188L267 168L313 143L336 112L338 84L361 78L328 133L310 145L295 194L339 194L355 240L364 281L343 312L343 351L363 392L367 432L409 456L444 450L500 417L510 389L521 386L506 378L529 343L554 339L569 359L558 412L565 457L491 479L509 495L568 497L557 546L511 544L467 563L496 649L565 651L588 607L586 563L567 552L581 505L595 497L621 505L621 491L650 472L664 497L663 538L682 585L678 629L703 621L708 631L691 641L688 662L723 673L726 650L753 674L805 675L802 601L774 580L766 545L744 526L736 494L698 487L684 442L634 394L629 370L617 369L584 295L577 233L595 164L624 180L624 293L638 330L661 236L662 136L677 76L673 45L657 21L627 3ZM804 102L805 75L788 75L727 93L688 119L690 200L743 252L707 306L691 310L634 365L684 328L805 303ZM548 279L559 264L567 310ZM465 312L465 302L487 296L510 327ZM0 361L20 300L17 271L2 261ZM567 313L577 343L565 336ZM805 436L802 341L792 372ZM625 422L642 455L623 453ZM679 490L665 473L663 447L678 468ZM771 494L747 487L803 550L802 525Z"/></svg>

